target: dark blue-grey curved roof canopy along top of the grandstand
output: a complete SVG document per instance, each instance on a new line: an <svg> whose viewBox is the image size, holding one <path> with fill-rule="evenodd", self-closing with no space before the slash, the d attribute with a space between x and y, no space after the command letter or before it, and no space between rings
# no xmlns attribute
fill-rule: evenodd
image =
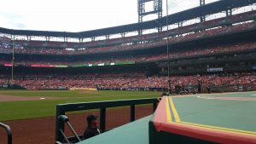
<svg viewBox="0 0 256 144"><path fill-rule="evenodd" d="M184 20L191 20L208 14L216 14L227 9L236 9L256 3L256 0L219 0L214 3L208 3L204 6L187 9L176 14L168 15L169 25ZM166 16L156 20L149 20L142 23L133 23L124 26L113 26L85 32L49 32L49 31L31 31L31 30L14 30L0 27L0 33L20 36L42 36L42 37L100 37L110 34L136 32L140 30L153 29L159 26L166 26Z"/></svg>

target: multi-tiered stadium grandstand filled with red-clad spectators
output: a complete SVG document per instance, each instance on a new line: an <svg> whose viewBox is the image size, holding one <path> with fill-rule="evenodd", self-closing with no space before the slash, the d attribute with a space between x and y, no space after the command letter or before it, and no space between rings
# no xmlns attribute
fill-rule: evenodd
<svg viewBox="0 0 256 144"><path fill-rule="evenodd" d="M255 3L201 3L155 20L85 32L1 27L0 89L171 89L173 95L255 91ZM156 107L155 100L132 102L133 109L135 104ZM106 107L93 108L106 117Z"/></svg>

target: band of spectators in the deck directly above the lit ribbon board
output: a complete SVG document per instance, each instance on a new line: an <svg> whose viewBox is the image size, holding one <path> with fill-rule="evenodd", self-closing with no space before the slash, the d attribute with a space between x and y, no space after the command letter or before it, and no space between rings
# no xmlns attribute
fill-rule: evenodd
<svg viewBox="0 0 256 144"><path fill-rule="evenodd" d="M208 44L202 47L192 47L188 49L173 49L170 51L170 58L183 58L192 55L212 55L217 53L226 52L241 52L244 50L256 49L256 42L240 42L229 44ZM1 50L1 49L0 49ZM108 56L96 56L85 58L82 60L69 60L69 59L15 59L15 65L31 66L31 65L82 65L82 64L100 64L100 63L116 63L125 61L154 61L154 60L166 60L167 55L163 53L156 54L137 54L137 55L108 55ZM0 64L10 64L9 57L0 57Z"/></svg>

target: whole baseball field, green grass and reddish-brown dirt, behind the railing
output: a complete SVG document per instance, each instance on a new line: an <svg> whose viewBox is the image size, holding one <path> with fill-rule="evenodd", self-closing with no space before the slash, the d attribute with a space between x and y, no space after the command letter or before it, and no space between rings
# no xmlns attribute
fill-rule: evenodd
<svg viewBox="0 0 256 144"><path fill-rule="evenodd" d="M147 91L93 91L93 90L0 90L0 122L8 124L12 131L15 144L40 143L50 144L55 141L55 109L57 104L115 101L126 99L142 99L159 97L159 92ZM109 109L107 128L114 128L130 121L129 107ZM99 111L67 113L75 129L82 133L85 118L88 114L99 115ZM152 113L151 106L137 109L137 118ZM70 132L67 132L69 135ZM5 133L0 130L6 143Z"/></svg>

